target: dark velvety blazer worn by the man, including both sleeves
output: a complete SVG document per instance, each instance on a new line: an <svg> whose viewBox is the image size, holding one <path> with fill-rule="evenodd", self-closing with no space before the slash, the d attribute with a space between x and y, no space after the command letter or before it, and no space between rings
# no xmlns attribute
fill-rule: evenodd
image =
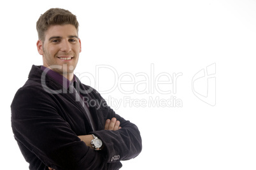
<svg viewBox="0 0 256 170"><path fill-rule="evenodd" d="M40 66L32 66L29 79L11 103L13 134L30 169L120 169L120 160L132 159L141 152L138 127L117 115L95 89L76 77L81 95L92 102L89 110L96 125L96 131L92 131L75 94L43 73ZM122 129L104 130L106 119L113 117ZM101 139L103 150L92 150L80 141L78 136L86 134Z"/></svg>

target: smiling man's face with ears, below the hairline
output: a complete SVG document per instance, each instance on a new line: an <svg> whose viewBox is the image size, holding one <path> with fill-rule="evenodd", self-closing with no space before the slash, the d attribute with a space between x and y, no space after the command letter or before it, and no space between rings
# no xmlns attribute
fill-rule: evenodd
<svg viewBox="0 0 256 170"><path fill-rule="evenodd" d="M38 40L37 46L43 55L43 66L63 76L73 74L81 52L81 41L74 25L50 26L45 32L45 41Z"/></svg>

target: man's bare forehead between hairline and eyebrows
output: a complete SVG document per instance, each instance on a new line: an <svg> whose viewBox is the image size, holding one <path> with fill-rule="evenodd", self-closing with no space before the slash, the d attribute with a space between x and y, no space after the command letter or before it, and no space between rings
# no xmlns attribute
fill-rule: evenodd
<svg viewBox="0 0 256 170"><path fill-rule="evenodd" d="M76 27L71 24L66 25L51 25L48 27L47 31L45 31L45 38L51 36L78 36L78 32L76 30Z"/></svg>

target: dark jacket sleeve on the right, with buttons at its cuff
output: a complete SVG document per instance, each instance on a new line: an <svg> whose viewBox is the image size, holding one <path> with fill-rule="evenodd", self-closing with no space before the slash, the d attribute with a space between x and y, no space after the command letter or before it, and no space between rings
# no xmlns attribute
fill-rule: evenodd
<svg viewBox="0 0 256 170"><path fill-rule="evenodd" d="M113 117L120 121L122 129L118 131L95 131L92 132L97 138L103 141L104 150L106 151L106 160L108 162L118 162L120 160L129 160L139 155L142 150L142 141L139 129L136 125L120 117L113 111L106 101L96 91L96 97L101 103L99 108L103 111L106 119ZM104 120L106 121L106 120Z"/></svg>

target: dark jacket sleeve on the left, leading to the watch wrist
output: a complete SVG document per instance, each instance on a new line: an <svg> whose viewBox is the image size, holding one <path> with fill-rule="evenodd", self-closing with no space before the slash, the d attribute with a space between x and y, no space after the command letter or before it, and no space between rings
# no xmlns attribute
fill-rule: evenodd
<svg viewBox="0 0 256 170"><path fill-rule="evenodd" d="M80 141L57 113L52 97L33 88L18 90L11 104L15 139L54 169L119 169ZM113 136L113 134L111 135Z"/></svg>

